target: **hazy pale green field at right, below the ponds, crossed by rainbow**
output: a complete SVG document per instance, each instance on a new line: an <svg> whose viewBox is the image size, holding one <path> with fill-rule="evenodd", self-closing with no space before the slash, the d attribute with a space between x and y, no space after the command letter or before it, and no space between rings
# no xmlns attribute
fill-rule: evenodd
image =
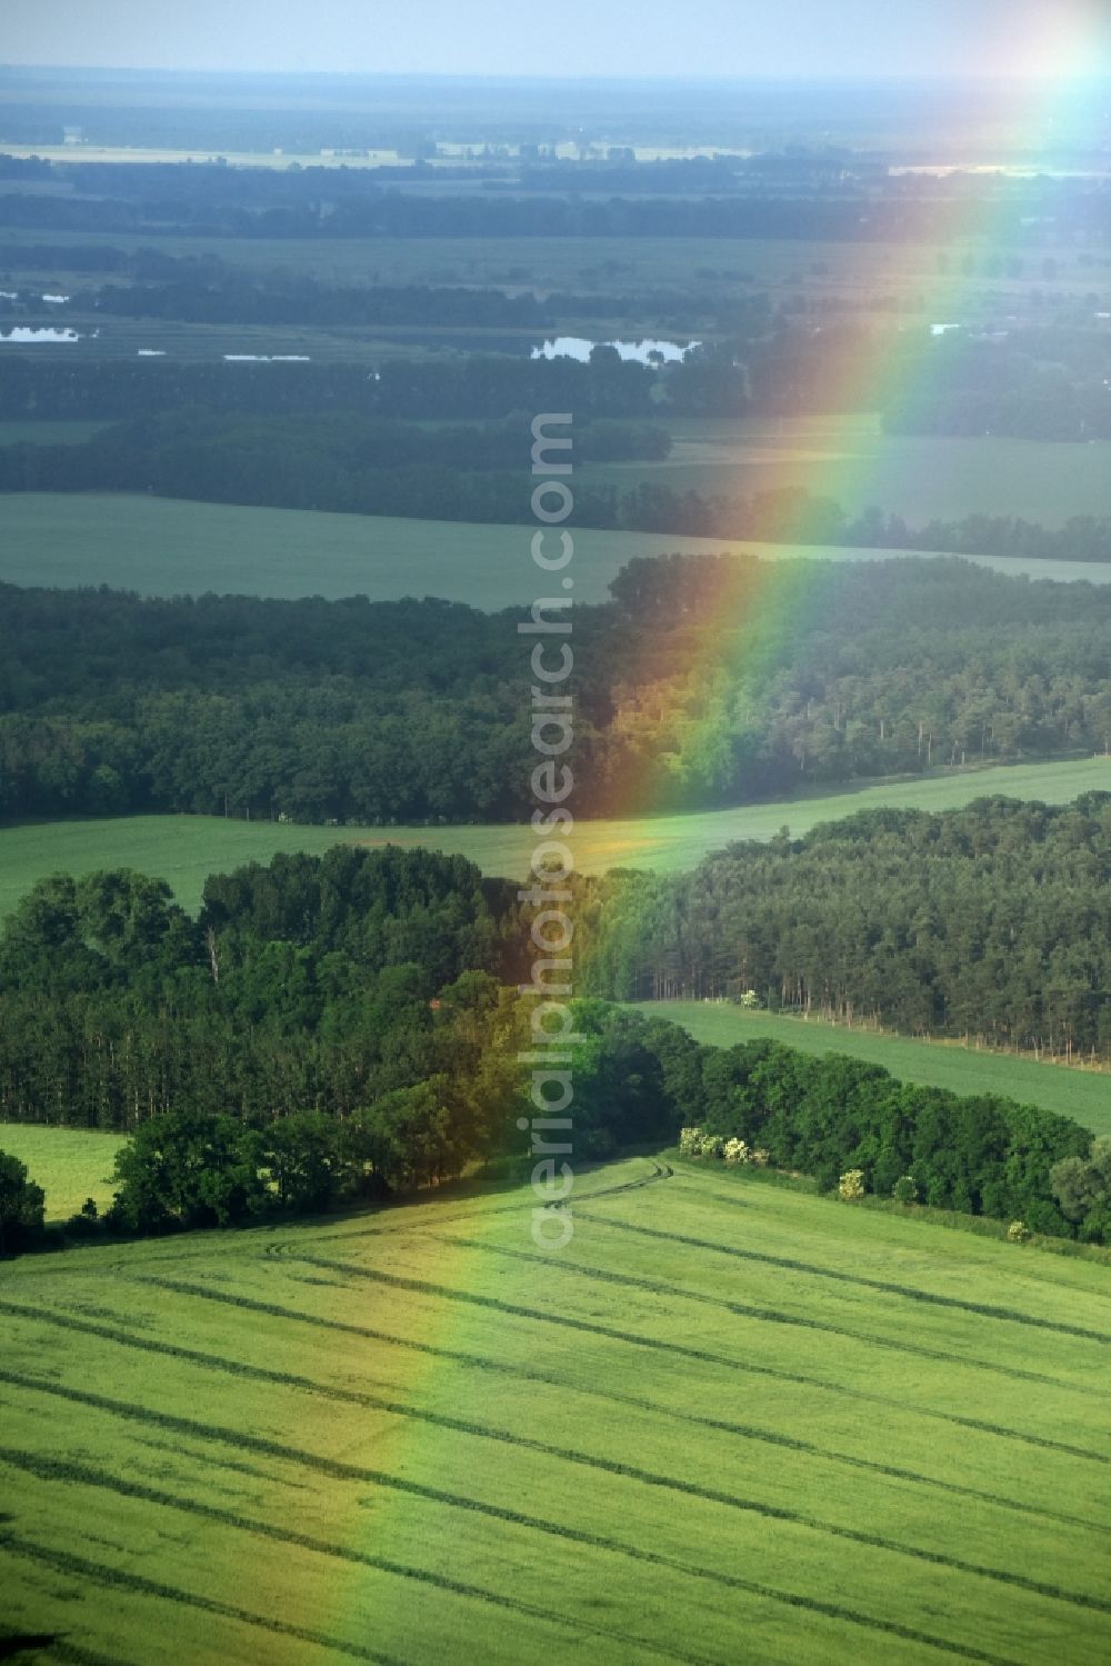
<svg viewBox="0 0 1111 1666"><path fill-rule="evenodd" d="M1056 526L1073 515L1111 515L1111 441L886 435L879 418L670 421L661 463L585 463L586 481L621 491L641 481L676 491L771 491L795 486L833 498L849 515L869 505L913 526L964 515L1016 515ZM1011 568L1011 563L1003 563Z"/></svg>

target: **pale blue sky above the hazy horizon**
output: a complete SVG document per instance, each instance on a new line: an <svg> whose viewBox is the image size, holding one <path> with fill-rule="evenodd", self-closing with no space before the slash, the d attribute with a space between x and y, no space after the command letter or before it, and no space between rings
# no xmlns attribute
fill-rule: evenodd
<svg viewBox="0 0 1111 1666"><path fill-rule="evenodd" d="M1111 0L0 0L0 62L435 75L1111 70Z"/></svg>

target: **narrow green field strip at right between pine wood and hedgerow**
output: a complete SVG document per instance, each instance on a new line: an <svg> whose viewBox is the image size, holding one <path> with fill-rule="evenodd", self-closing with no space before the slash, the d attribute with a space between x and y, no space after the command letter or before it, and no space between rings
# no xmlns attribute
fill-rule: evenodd
<svg viewBox="0 0 1111 1666"><path fill-rule="evenodd" d="M646 1018L670 1018L696 1041L736 1046L738 1041L768 1038L801 1053L844 1053L883 1065L899 1081L918 1081L951 1093L1001 1093L1019 1105L1039 1105L1059 1116L1071 1116L1098 1135L1111 1135L1111 1075L1078 1066L1039 1063L1011 1053L913 1036L849 1030L821 1020L805 1021L778 1013L746 1013L715 1001L651 1001L636 1011Z"/></svg>

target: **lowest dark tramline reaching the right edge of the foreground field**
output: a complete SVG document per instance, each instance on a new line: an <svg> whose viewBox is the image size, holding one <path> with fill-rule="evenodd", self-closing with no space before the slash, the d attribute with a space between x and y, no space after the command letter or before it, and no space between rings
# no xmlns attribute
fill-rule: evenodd
<svg viewBox="0 0 1111 1666"><path fill-rule="evenodd" d="M53 1321L53 1316L52 1316ZM107 1326L85 1326L80 1329L92 1329L93 1334L103 1334ZM128 1338L110 1336L112 1341L128 1343ZM157 1344L157 1351L162 1353L162 1344ZM180 1356L182 1349L167 1346L167 1351ZM240 1361L222 1361L218 1354L185 1354L187 1358L195 1358L198 1363L208 1364L215 1369L225 1369L235 1376L243 1374ZM745 1498L738 1493L726 1493L721 1488L698 1486L695 1481L681 1481L676 1476L660 1474L655 1469L641 1469L640 1464L620 1463L616 1458L600 1458L591 1453L575 1451L570 1446L556 1446L551 1441L541 1441L535 1436L511 1434L508 1429L498 1429L490 1423L475 1423L468 1418L455 1418L441 1411L428 1411L420 1406L408 1406L403 1401L386 1399L381 1394L366 1394L356 1389L340 1389L331 1388L325 1383L313 1383L311 1378L285 1378L280 1373L267 1371L262 1366L252 1366L247 1374L258 1376L263 1381L275 1381L280 1386L301 1388L308 1393L323 1396L325 1399L340 1399L348 1404L368 1406L375 1411L385 1411L396 1418L408 1418L415 1423L426 1423L431 1428L446 1429L451 1434L466 1434L475 1439L495 1441L500 1446L511 1446L516 1451L530 1451L541 1458L551 1458L555 1463L570 1463L583 1469L591 1469L600 1474L611 1474L623 1481L636 1481L641 1486L660 1488L665 1493L676 1493L681 1498L696 1498L705 1504L718 1504L723 1509L733 1509L741 1514L758 1516L763 1521L780 1521L786 1526L805 1528L810 1533L825 1534L830 1538L848 1539L853 1544L864 1544L869 1549L886 1551L893 1556L908 1556L914 1561L931 1563L938 1568L949 1568L954 1573L971 1574L974 1578L994 1579L999 1584L1016 1586L1023 1591L1033 1591L1036 1596L1046 1596L1059 1603L1071 1604L1074 1608L1091 1608L1099 1613L1111 1614L1111 1601L1091 1596L1086 1591L1068 1591L1063 1586L1049 1584L1041 1579L1028 1579L1024 1574L1011 1573L1006 1568L991 1568L986 1563L964 1561L959 1556L946 1556L943 1551L923 1549L918 1544L903 1544L899 1539L888 1539L879 1533L864 1533L859 1528L838 1526L834 1523L820 1521L816 1516L806 1516L798 1509L788 1509L786 1504L770 1504L765 1499ZM15 1373L0 1371L0 1381L15 1379ZM35 1381L30 1379L30 1386Z"/></svg>

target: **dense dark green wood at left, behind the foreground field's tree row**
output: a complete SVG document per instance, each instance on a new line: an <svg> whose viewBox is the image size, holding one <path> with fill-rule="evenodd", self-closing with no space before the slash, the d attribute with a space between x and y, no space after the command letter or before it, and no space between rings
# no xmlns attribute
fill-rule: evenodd
<svg viewBox="0 0 1111 1666"><path fill-rule="evenodd" d="M45 880L0 938L0 1120L263 1126L385 1101L410 1121L415 1178L456 1173L500 1138L516 1081L496 1045L513 898L460 858L396 848L213 876L197 920L137 873ZM385 1183L405 1173L380 1165Z"/></svg>

